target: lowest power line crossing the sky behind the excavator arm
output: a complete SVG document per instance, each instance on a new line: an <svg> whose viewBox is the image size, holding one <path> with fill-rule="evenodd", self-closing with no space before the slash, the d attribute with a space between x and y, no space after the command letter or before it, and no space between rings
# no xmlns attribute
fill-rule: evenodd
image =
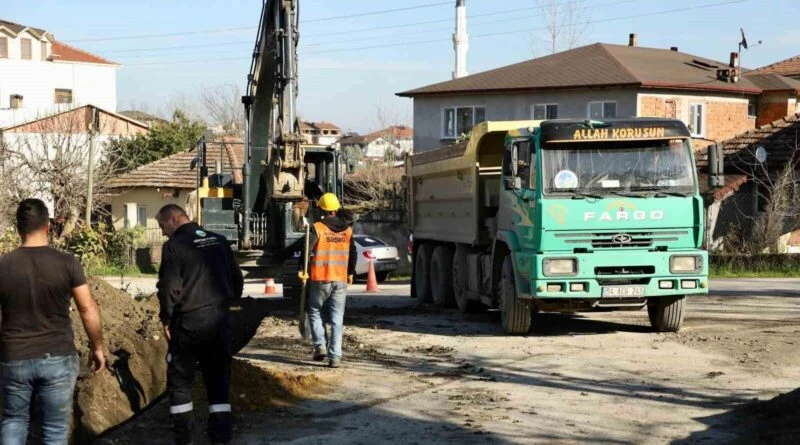
<svg viewBox="0 0 800 445"><path fill-rule="evenodd" d="M706 8L713 8L717 6L726 6L732 5L737 3L744 3L750 0L729 0L724 2L718 3L711 3L706 5L699 5L699 6L689 6L684 8L675 8L675 9L668 9L663 11L654 11L649 13L641 13L641 14L633 14L621 17L612 17L608 19L599 19L599 20L588 20L581 23L575 24L564 24L556 26L556 28L565 28L569 26L580 26L580 25L589 25L594 23L608 23L620 20L628 20L628 19L635 19L635 18L642 18L642 17L651 17L657 15L665 15L665 14L674 14L678 12L685 12L685 11L692 11L697 9L706 9ZM531 31L538 31L538 30L548 30L551 27L538 27L538 28L525 28L525 29L517 29L513 31L501 31L495 33L486 33L486 34L475 34L472 35L470 38L484 38L484 37L496 37L501 35L510 35L510 34L519 34L524 32L531 32ZM304 52L303 55L313 55L313 54L330 54L330 53L340 53L340 52L348 52L348 51L360 51L366 49L381 49L381 48L394 48L394 47L401 47L401 46L416 46L416 45L424 45L428 43L439 43L439 42L446 42L450 41L449 38L439 38L439 39L431 39L431 40L421 40L421 41L414 41L414 42L401 42L401 43L391 43L391 44L381 44L381 45L370 45L370 46L362 46L356 48L340 48L340 49L331 49L331 50L322 50L322 51L312 51L312 52ZM143 65L165 65L165 64L183 64L183 63L211 63L216 61L230 61L230 60L245 60L243 57L237 58L222 58L222 59L206 59L206 60L186 60L186 61L171 61L171 62L151 62L151 63L137 63L137 64L130 64L128 66L143 66Z"/></svg>

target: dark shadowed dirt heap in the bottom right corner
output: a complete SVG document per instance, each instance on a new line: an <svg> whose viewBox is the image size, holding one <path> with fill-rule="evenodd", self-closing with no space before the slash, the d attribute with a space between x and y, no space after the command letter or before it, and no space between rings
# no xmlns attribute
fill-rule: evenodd
<svg viewBox="0 0 800 445"><path fill-rule="evenodd" d="M742 428L740 443L790 445L800 443L800 389L771 400L747 404L734 414Z"/></svg>

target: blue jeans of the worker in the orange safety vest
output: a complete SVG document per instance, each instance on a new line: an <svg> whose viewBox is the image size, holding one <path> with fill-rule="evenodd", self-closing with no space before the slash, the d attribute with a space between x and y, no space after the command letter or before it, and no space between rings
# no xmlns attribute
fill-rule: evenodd
<svg viewBox="0 0 800 445"><path fill-rule="evenodd" d="M344 305L347 301L347 283L310 281L308 283L308 321L314 348L328 347L329 359L342 357L344 333ZM331 338L327 340L325 321L331 323Z"/></svg>

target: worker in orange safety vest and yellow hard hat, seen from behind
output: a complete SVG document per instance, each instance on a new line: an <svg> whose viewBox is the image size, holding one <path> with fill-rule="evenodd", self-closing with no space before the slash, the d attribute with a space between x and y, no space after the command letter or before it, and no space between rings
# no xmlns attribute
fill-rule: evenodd
<svg viewBox="0 0 800 445"><path fill-rule="evenodd" d="M341 204L336 195L325 193L317 201L317 207L325 214L309 233L309 271L300 270L298 276L303 283L311 280L308 283L308 319L314 342L313 359L323 361L327 357L328 366L338 368L342 358L347 286L353 284L356 270L356 246L353 229L337 215ZM326 335L325 320L330 321L330 338Z"/></svg>

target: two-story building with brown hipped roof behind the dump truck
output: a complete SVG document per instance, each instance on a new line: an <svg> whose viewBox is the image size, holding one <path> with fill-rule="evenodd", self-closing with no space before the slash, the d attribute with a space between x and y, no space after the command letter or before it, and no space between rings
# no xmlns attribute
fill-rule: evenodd
<svg viewBox="0 0 800 445"><path fill-rule="evenodd" d="M485 120L666 117L721 141L798 111L800 81L738 70L678 48L595 43L398 93L414 100L414 150L449 145ZM775 116L775 114L781 114Z"/></svg>

